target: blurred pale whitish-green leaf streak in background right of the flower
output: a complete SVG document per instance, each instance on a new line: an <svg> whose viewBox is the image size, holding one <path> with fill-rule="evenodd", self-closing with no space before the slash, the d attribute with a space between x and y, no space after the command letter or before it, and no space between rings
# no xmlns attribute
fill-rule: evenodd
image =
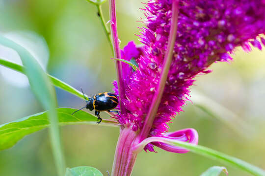
<svg viewBox="0 0 265 176"><path fill-rule="evenodd" d="M201 92L192 89L190 100L196 107L200 108L208 115L220 120L241 136L247 137L251 134L252 129L250 126L237 114L203 95Z"/></svg>

